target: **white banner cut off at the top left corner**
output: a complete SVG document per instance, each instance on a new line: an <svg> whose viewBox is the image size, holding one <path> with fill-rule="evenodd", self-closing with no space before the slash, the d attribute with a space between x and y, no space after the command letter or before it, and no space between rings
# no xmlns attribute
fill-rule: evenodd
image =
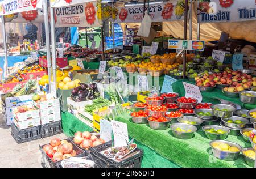
<svg viewBox="0 0 256 179"><path fill-rule="evenodd" d="M43 0L4 0L0 2L0 15L32 11L43 7Z"/></svg>

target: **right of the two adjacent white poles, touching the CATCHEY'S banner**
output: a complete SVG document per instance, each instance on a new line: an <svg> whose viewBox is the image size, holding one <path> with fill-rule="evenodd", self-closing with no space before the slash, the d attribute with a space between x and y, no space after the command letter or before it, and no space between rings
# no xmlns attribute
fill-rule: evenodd
<svg viewBox="0 0 256 179"><path fill-rule="evenodd" d="M54 9L51 8L51 36L52 36L52 73L53 82L56 83L56 41L55 41L55 22L54 22ZM56 90L56 88L54 88Z"/></svg>

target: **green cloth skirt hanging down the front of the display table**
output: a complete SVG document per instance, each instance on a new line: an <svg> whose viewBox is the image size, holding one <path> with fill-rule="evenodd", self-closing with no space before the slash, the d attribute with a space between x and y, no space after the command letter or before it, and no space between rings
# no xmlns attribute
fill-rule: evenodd
<svg viewBox="0 0 256 179"><path fill-rule="evenodd" d="M67 136L74 135L77 131L92 131L93 129L87 126L85 123L81 122L78 118L73 116L68 112L61 112L61 121L63 126L64 134ZM130 133L130 130L129 130ZM131 135L133 137L133 135ZM160 168L160 167L170 167L178 168L179 166L172 163L171 161L165 159L164 157L157 154L151 148L139 143L135 140L138 147L144 151L142 167L143 168Z"/></svg>

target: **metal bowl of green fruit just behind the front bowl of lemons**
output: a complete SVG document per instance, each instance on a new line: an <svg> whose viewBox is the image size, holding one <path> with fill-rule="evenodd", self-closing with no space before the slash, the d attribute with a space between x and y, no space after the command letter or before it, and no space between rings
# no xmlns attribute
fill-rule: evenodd
<svg viewBox="0 0 256 179"><path fill-rule="evenodd" d="M215 130L223 130L226 133L225 134L214 134L214 133L209 133L207 131L207 129L215 129ZM217 125L209 125L209 126L204 126L202 127L202 130L204 131L205 135L207 136L208 139L211 140L224 140L227 135L230 133L230 130L226 127L222 127L222 126L217 126Z"/></svg>

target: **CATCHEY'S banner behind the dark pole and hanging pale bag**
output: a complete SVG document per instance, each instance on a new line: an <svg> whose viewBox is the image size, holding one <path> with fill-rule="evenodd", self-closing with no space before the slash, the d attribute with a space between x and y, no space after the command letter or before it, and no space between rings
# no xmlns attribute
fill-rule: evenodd
<svg viewBox="0 0 256 179"><path fill-rule="evenodd" d="M106 8L106 10L104 10ZM102 7L104 11L109 11L109 7ZM183 0L171 0L164 2L151 2L146 10L152 18L152 22L164 22L174 20L184 20L185 3ZM115 23L137 23L143 19L143 3L136 5L125 5L125 7L115 7L112 10Z"/></svg>

